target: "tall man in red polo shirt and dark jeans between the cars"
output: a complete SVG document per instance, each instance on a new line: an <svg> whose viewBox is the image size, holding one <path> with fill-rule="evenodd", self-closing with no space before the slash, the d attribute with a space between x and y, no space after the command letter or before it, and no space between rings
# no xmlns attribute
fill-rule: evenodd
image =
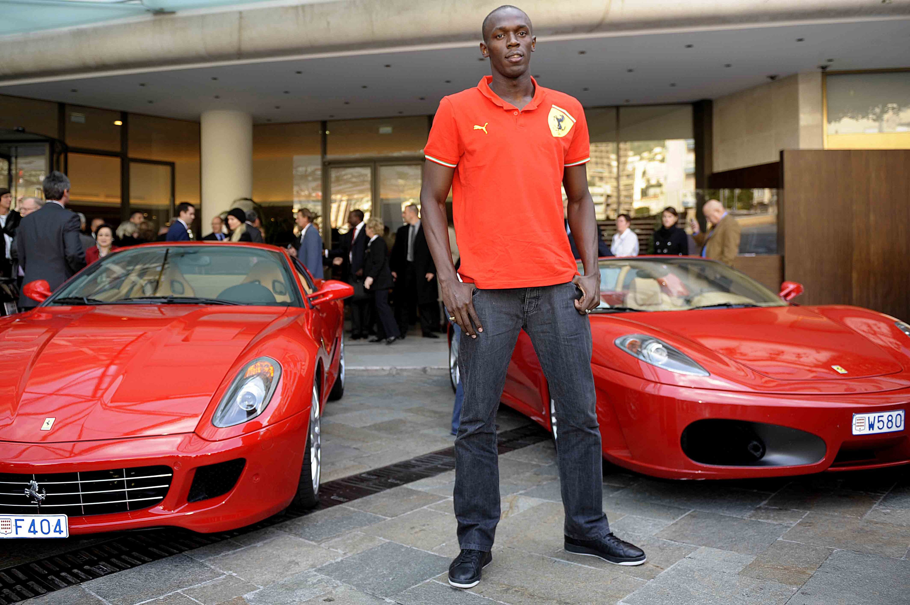
<svg viewBox="0 0 910 605"><path fill-rule="evenodd" d="M610 531L602 509L601 433L591 376L591 324L600 300L597 224L588 191L588 126L579 102L529 72L531 19L501 6L484 19L480 53L492 76L446 96L424 149L420 202L442 300L464 330L464 403L455 441L460 555L449 583L470 588L490 564L500 519L496 408L521 329L556 402L565 549L619 565L644 552ZM581 253L578 275L562 222ZM445 202L452 187L461 265L452 266Z"/></svg>

